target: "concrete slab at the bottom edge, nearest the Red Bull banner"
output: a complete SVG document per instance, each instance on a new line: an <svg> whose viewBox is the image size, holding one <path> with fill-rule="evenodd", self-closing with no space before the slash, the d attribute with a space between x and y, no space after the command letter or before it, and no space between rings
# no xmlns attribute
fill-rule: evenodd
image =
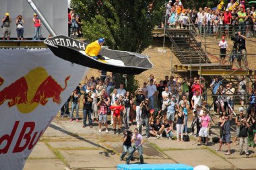
<svg viewBox="0 0 256 170"><path fill-rule="evenodd" d="M64 170L65 165L59 159L28 159L24 170Z"/></svg>

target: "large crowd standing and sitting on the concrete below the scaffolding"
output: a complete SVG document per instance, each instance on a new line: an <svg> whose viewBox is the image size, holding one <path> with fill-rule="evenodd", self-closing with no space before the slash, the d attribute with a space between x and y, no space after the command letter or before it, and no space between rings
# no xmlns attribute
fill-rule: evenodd
<svg viewBox="0 0 256 170"><path fill-rule="evenodd" d="M121 134L123 130L137 126L139 134L141 134L142 128L145 126L146 134L141 135L145 135L146 138L166 136L168 140L176 138L177 141L183 141L187 136L194 135L199 137L197 145L201 145L202 142L207 145L210 125L213 124L211 113L216 112L216 115L220 117L219 151L223 141L228 143L228 148L230 148L229 121L232 120L232 114L234 114L236 98L240 100L241 108L239 110L243 113L245 122L249 124L247 127L247 123L245 123L245 127L248 129L249 146L255 146L253 141L256 130L255 92L249 99L250 107L245 110L247 82L243 76L237 78L237 84L226 80L220 81L219 77L214 77L208 86L203 77L188 79L177 75L170 77L166 75L158 84L154 75L150 75L143 82L141 88L135 91L126 91L123 83L115 83L115 75L111 77L106 74L106 71L99 71L99 73L100 77L96 79L94 77L87 79L86 77L84 85L77 86L67 101L68 103L71 101L71 113L69 114L65 103L61 108L61 117L69 116L71 122L73 120L79 122L77 107L80 103L83 105L84 128L86 126L92 128L98 124L98 132L105 130L108 133L110 126L113 128L114 134ZM207 102L210 100L209 97L204 95L210 90L212 91L212 105ZM73 118L74 110L76 110L75 118ZM189 114L193 115L191 127L187 126ZM236 130L239 130L242 124L238 120L236 120ZM102 124L105 126L104 129ZM174 132L177 137L174 137ZM237 133L234 138L241 137L239 135ZM247 136L243 134L243 137ZM233 144L236 144L236 140ZM226 154L230 154L230 151L228 150Z"/></svg>

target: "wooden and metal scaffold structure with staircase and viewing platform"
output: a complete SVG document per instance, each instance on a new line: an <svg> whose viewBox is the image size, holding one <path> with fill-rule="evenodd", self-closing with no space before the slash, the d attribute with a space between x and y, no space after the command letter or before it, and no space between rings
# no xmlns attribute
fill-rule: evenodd
<svg viewBox="0 0 256 170"><path fill-rule="evenodd" d="M165 34L164 34L165 33ZM189 29L172 29L163 28L154 29L152 34L158 37L168 38L171 44L171 52L174 54L180 65L172 65L171 73L180 75L181 77L203 77L208 85L212 83L213 76L220 77L222 83L232 82L234 87L238 88L238 79L241 75L245 76L247 81L247 89L245 94L245 103L248 103L251 93L251 85L255 82L255 71L247 67L243 69L232 69L232 65L220 65L220 63L212 63L207 51L203 50L203 41L201 37L196 34L196 31ZM219 54L214 54L218 55ZM230 56L230 54L227 54ZM229 58L229 57L228 57ZM200 79L201 80L201 79ZM212 96L211 89L207 89L204 95ZM236 89L238 91L238 89ZM238 103L241 96L236 96L236 103ZM212 102L212 105L215 101ZM212 105L209 107L212 108Z"/></svg>

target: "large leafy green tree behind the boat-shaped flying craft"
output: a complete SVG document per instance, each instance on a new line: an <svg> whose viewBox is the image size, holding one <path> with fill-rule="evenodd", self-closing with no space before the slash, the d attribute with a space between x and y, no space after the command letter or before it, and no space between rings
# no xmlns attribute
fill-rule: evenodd
<svg viewBox="0 0 256 170"><path fill-rule="evenodd" d="M164 10L163 2L157 0L72 0L71 6L83 19L86 40L104 37L111 49L139 53L151 44L152 30L161 22ZM125 82L123 78L117 81ZM128 75L127 89L133 86L137 81Z"/></svg>

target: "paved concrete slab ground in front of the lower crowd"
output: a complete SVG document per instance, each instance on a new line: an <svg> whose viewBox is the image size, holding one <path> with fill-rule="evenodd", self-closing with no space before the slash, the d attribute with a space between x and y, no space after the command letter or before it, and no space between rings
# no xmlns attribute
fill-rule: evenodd
<svg viewBox="0 0 256 170"><path fill-rule="evenodd" d="M191 122L189 122L191 124ZM82 128L82 120L69 122L68 118L55 118L36 144L26 161L26 170L44 169L117 169L122 151L123 135L113 134L113 126L104 127L98 132L97 124L93 128ZM133 130L135 126L131 126ZM142 134L145 134L143 129ZM175 133L174 133L175 134ZM218 128L212 128L212 138L219 134ZM234 132L232 132L234 134ZM211 140L212 141L212 140ZM231 145L232 154L224 155L227 146L216 152L218 144L209 142L209 146L196 146L197 140L191 136L190 142L177 142L166 138L148 138L143 144L145 163L184 163L193 167L206 165L210 169L256 169L255 148L249 148L250 155L240 156L239 146ZM135 161L139 163L137 153Z"/></svg>

